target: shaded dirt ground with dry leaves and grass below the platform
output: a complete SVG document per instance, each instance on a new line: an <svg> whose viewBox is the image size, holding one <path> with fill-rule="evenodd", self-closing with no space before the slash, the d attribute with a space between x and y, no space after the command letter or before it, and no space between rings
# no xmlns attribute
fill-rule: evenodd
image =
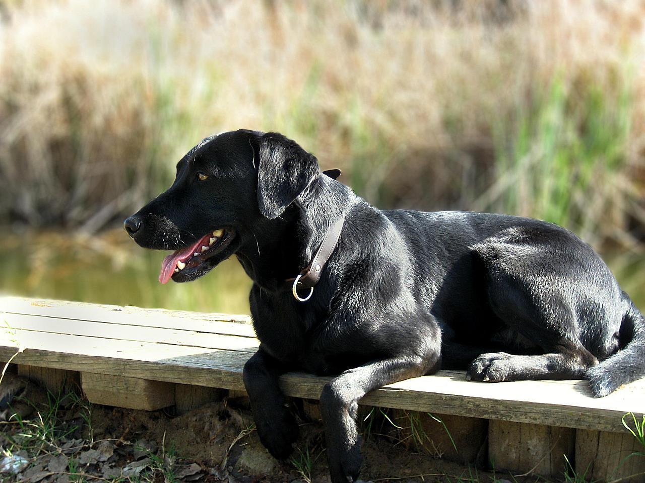
<svg viewBox="0 0 645 483"><path fill-rule="evenodd" d="M147 412L89 404L73 393L58 398L42 390L30 394L37 403L14 401L24 414L0 423L3 482L330 481L322 424L303 413L302 405L294 404L301 437L292 457L278 461L259 442L244 397L223 397L177 415L173 408ZM371 416L368 409L359 418L364 481L522 481L417 451L404 444L396 422Z"/></svg>

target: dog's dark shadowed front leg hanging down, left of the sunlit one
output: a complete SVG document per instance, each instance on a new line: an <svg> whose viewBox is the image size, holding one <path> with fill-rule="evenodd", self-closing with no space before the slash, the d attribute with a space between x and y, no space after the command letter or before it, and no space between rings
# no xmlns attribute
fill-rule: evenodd
<svg viewBox="0 0 645 483"><path fill-rule="evenodd" d="M243 373L257 434L277 459L288 457L298 439L298 423L278 385L285 372L286 368L260 346L246 361Z"/></svg>

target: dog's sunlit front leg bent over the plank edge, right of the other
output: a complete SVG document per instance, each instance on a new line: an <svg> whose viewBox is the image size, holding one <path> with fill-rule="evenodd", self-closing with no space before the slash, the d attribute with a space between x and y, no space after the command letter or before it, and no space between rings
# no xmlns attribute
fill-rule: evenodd
<svg viewBox="0 0 645 483"><path fill-rule="evenodd" d="M439 350L429 357L384 359L347 370L324 386L321 412L332 483L356 481L361 470L361 437L356 427L359 399L385 384L426 374L438 359Z"/></svg>

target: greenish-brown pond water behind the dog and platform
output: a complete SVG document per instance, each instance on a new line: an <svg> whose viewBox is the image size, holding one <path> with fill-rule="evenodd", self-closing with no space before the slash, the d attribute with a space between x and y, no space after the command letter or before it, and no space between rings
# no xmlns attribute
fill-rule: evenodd
<svg viewBox="0 0 645 483"><path fill-rule="evenodd" d="M0 236L0 292L173 310L248 314L251 281L235 257L192 283L161 285L167 252L145 250L122 230L100 236L28 232ZM604 256L620 286L645 310L645 256Z"/></svg>

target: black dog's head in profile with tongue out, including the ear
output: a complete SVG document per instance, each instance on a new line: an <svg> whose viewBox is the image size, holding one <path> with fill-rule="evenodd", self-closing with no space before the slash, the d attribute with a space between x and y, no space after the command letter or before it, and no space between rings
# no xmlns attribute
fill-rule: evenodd
<svg viewBox="0 0 645 483"><path fill-rule="evenodd" d="M283 135L222 133L188 151L172 186L124 228L141 247L175 251L161 283L194 280L253 240L253 227L280 216L319 174L315 156Z"/></svg>

